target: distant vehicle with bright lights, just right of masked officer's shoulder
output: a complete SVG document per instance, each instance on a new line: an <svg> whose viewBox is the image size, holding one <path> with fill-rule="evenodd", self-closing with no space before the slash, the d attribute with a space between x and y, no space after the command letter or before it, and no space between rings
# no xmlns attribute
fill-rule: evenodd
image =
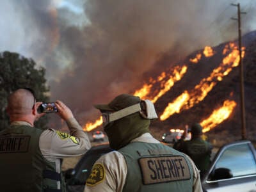
<svg viewBox="0 0 256 192"><path fill-rule="evenodd" d="M162 141L164 143L175 143L181 138L183 132L184 130L182 129L170 129L170 132L166 132L163 134ZM191 138L191 133L189 132L185 140L190 140L190 138Z"/></svg>

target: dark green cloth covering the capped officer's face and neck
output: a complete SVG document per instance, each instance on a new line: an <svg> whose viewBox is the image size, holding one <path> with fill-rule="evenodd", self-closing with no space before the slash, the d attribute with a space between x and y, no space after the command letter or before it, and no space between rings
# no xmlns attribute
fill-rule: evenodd
<svg viewBox="0 0 256 192"><path fill-rule="evenodd" d="M118 150L135 138L149 132L150 120L141 118L140 113L134 113L120 118L104 127L111 148Z"/></svg>

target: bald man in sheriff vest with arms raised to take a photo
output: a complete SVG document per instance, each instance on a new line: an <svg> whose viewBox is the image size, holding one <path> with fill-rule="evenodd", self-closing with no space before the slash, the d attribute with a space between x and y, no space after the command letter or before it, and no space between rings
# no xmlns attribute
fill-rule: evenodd
<svg viewBox="0 0 256 192"><path fill-rule="evenodd" d="M90 148L87 134L60 100L55 103L57 114L67 122L70 134L34 127L45 115L37 112L40 104L28 88L20 88L8 98L11 124L0 132L0 191L65 191L61 159Z"/></svg>

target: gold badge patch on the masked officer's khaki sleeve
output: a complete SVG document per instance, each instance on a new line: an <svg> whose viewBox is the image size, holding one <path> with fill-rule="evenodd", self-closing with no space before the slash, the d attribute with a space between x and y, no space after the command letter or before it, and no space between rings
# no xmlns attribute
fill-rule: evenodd
<svg viewBox="0 0 256 192"><path fill-rule="evenodd" d="M92 168L91 174L86 180L86 185L95 186L105 179L105 168L103 164L95 164Z"/></svg>

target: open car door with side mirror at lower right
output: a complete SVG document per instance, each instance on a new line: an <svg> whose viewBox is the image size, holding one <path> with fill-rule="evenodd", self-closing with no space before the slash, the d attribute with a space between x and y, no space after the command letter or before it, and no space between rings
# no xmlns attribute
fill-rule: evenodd
<svg viewBox="0 0 256 192"><path fill-rule="evenodd" d="M250 141L222 147L202 179L204 191L256 191L255 148Z"/></svg>

